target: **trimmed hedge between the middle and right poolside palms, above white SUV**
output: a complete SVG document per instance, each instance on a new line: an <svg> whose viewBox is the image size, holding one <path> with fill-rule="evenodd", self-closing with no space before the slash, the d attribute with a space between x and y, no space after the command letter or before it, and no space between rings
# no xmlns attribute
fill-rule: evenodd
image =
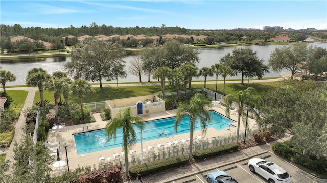
<svg viewBox="0 0 327 183"><path fill-rule="evenodd" d="M209 147L206 149L196 150L192 152L192 156L194 159L202 160L205 158L209 158L215 155L222 155L232 150L237 150L239 145L236 143L229 143L220 146Z"/></svg>

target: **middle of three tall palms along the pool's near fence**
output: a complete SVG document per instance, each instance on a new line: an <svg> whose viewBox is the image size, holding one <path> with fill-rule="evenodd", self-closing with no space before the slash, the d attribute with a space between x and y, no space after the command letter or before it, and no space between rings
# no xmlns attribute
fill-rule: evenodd
<svg viewBox="0 0 327 183"><path fill-rule="evenodd" d="M190 118L190 153L189 159L192 159L192 143L193 143L193 129L200 119L202 135L206 133L206 128L211 122L207 107L211 107L211 100L204 97L201 93L196 93L189 103L181 103L176 110L176 118L174 121L175 132L177 132L177 126L184 115L189 115Z"/></svg>

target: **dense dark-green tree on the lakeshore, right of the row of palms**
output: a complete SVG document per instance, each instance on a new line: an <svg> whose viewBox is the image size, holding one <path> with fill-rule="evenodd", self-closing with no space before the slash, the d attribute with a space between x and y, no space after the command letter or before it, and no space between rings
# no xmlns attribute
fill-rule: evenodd
<svg viewBox="0 0 327 183"><path fill-rule="evenodd" d="M221 58L220 62L230 66L234 70L234 74L241 74L241 84L244 85L244 76L263 77L264 73L268 72L268 66L264 65L263 59L259 59L257 51L251 48L235 48L232 55L226 54Z"/></svg>

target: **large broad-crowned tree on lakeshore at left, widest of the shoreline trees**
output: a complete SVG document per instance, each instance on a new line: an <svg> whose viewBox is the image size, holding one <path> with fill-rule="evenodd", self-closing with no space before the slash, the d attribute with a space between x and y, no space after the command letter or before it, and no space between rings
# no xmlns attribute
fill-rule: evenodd
<svg viewBox="0 0 327 183"><path fill-rule="evenodd" d="M94 39L72 52L72 59L65 64L65 69L75 78L99 81L102 89L102 79L116 79L113 71L118 69L115 67L125 67L124 56L122 45ZM119 74L125 75L126 72L121 70Z"/></svg>

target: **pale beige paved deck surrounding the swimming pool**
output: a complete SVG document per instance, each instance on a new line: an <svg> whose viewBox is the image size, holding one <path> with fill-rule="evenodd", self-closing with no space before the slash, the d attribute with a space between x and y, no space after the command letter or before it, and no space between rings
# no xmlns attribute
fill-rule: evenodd
<svg viewBox="0 0 327 183"><path fill-rule="evenodd" d="M222 115L225 115L225 110L223 110L222 106L219 104L213 105L212 109ZM147 114L142 116L142 118L145 121L149 120L155 120L155 119L161 119L161 118L167 118L167 117L174 117L175 116L176 110L169 110L165 112L159 112L159 113L153 113L153 114ZM83 127L86 130L87 126L89 130L96 130L96 129L103 129L107 121L102 121L100 117L100 113L94 114L94 117L96 119L96 122L94 123L87 123L87 124L80 124L80 125L74 125L74 126L65 126L60 130L59 133L57 132L49 132L48 133L48 141L49 142L60 142L59 146L60 149L59 151L61 152L60 158L61 160L66 160L66 152L65 148L63 147L64 143L67 144L67 155L68 155L68 160L69 160L69 169L75 169L78 168L78 166L86 166L86 165L93 165L93 164L98 164L99 163L99 157L103 156L104 159L106 160L108 157L113 159L112 154L118 153L121 155L121 152L124 151L123 147L116 147L116 148L111 148L107 150L102 150L102 151L97 151L97 152L91 152L87 154L82 154L82 155L77 155L76 147L74 147L75 143L73 142L73 136L72 134L76 133L82 133L83 132ZM238 115L236 114L230 114L230 117L232 120L237 121L238 120ZM237 126L237 122L231 123L233 126ZM254 119L248 118L248 125L249 127L253 127L256 125L256 122ZM245 127L242 125L241 121L241 126L240 130L244 130ZM237 128L231 128L229 129L224 129L217 131L214 128L208 128L207 132L205 134L205 138L211 138L211 137L217 137L219 135L225 135L229 134L230 132L236 132ZM201 135L201 130L197 130L193 134L193 138ZM166 136L166 134L165 134ZM174 135L174 136L169 136L168 138L160 138L156 140L151 140L151 141L146 141L143 142L143 149L148 150L147 146L152 146L154 149L157 149L156 144L162 144L162 145L167 145L167 142L173 142L175 140L180 141L181 139L188 139L190 137L189 133L185 134L180 134L180 135ZM133 149L136 151L136 154L141 153L141 144L137 143L134 145ZM132 150L132 149L129 149ZM122 155L121 155L122 157ZM54 161L56 161L56 156L53 156ZM64 167L66 169L67 166Z"/></svg>

